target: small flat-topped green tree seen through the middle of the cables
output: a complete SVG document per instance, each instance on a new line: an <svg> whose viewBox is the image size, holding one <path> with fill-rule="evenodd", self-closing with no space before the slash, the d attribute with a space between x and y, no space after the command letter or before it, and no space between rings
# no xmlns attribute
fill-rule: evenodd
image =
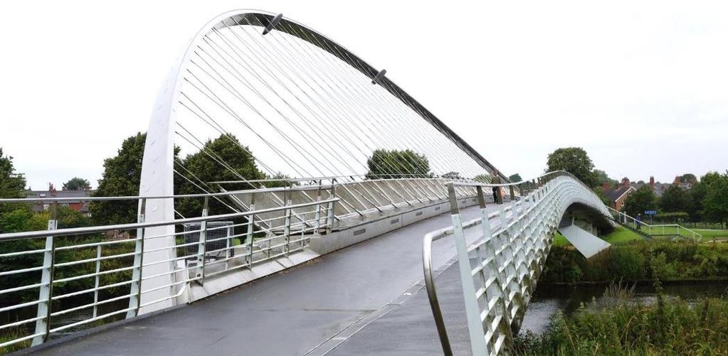
<svg viewBox="0 0 728 356"><path fill-rule="evenodd" d="M432 177L430 161L413 150L374 150L366 164L367 179Z"/></svg>

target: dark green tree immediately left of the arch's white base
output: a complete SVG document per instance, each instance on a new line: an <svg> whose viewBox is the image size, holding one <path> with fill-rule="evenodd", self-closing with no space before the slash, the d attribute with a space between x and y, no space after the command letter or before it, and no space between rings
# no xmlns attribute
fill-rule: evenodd
<svg viewBox="0 0 728 356"><path fill-rule="evenodd" d="M141 161L146 133L124 139L116 156L103 161L103 174L94 196L139 195ZM137 221L138 201L93 201L89 204L97 224L128 224Z"/></svg>

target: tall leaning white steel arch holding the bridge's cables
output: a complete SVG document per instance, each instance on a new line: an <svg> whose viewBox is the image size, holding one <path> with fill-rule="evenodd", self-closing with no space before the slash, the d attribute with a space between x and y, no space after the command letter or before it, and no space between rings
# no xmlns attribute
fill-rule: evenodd
<svg viewBox="0 0 728 356"><path fill-rule="evenodd" d="M190 70L194 69L193 67L195 63L193 62L193 58L194 60L198 61L202 58L200 54L197 53L197 49L200 49L200 52L204 52L204 50L202 50L202 48L199 46L203 45L203 42L205 42L207 45L210 45L206 41L206 36L210 35L211 33L219 34L218 31L223 28L234 28L239 25L260 26L262 31L262 26L264 26L266 23L270 23L274 18L275 15L273 13L259 10L240 9L225 12L213 18L213 20L210 20L197 32L193 39L191 39L189 46L183 52L181 57L178 58L178 61L173 66L173 69L167 77L165 84L162 86L162 89L160 89L159 94L157 95L157 101L154 105L149 129L147 131L146 145L142 162L141 185L139 188L139 195L170 196L174 195L175 193L175 134L179 134L179 132L176 132L176 130L179 129L178 126L181 125L179 123L179 117L181 116L182 111L181 105L179 104L181 104L183 100L189 100L189 98L183 94L182 88L184 85L186 85L184 83L184 80L186 79L186 73L191 73ZM349 73L347 71L341 71L341 68L337 69L340 70L339 72L336 72L334 70L332 72L332 75L338 74L343 76L344 78L340 79L343 80L341 82L342 86L332 87L331 91L337 96L338 99L336 100L340 99L345 102L344 105L358 105L358 107L362 110L363 116L357 116L357 113L348 113L346 108L339 106L341 104L336 102L328 102L328 105L331 106L325 109L331 109L336 111L335 114L332 114L335 117L349 116L349 118L353 120L353 122L355 123L353 126L344 125L339 128L339 132L352 131L352 134L354 135L363 135L361 142L363 142L366 147L363 150L360 147L356 147L360 151L360 153L357 153L357 155L363 155L363 157L365 158L366 155L371 154L371 150L373 148L382 147L378 146L376 142L381 143L384 142L385 139L389 140L388 142L385 142L390 145L388 147L389 149L406 147L406 144L397 142L398 139L403 139L409 143L421 145L420 147L423 147L422 149L427 150L427 153L429 153L430 159L433 160L433 164L436 163L435 159L439 160L437 161L437 163L441 165L441 169L439 172L436 172L437 174L446 174L452 171L452 173L455 173L455 175L457 175L457 171L464 172L466 170L469 170L470 172L474 173L469 173L467 178L475 177L476 173L483 172L490 175L499 174L503 180L507 181L507 178L500 174L499 171L497 171L497 169L495 169L495 167L491 165L491 163L486 161L486 159L483 158L478 152L473 150L470 145L460 139L460 137L452 132L451 129L443 124L442 121L432 115L432 113L430 113L427 109L420 105L419 102L416 102L414 98L410 97L406 92L400 89L400 87L392 83L392 81L389 81L389 79L384 76L384 70L379 71L374 69L373 67L371 67L371 65L368 65L355 54L352 54L347 49L345 49L343 46L336 44L336 42L331 41L331 39L328 39L317 31L314 31L311 28L306 27L305 25L301 25L300 23L297 23L293 20L286 18L284 20L281 20L280 25L276 25L275 23L273 25L278 26L276 28L276 31L286 33L292 37L297 37L297 39L300 39L301 42L311 44L312 46L321 49L321 52L328 52L326 53L329 54L328 57L315 57L315 60L320 60L320 62L315 62L313 60L311 62L304 62L303 60L301 60L302 65L298 69L311 69L313 68L312 66L316 65L331 65L332 60L333 62L336 62L336 60L341 60L341 62L349 65L349 70L353 68L354 72L356 72L355 75L352 75L352 73ZM270 36L272 35L269 34L268 36L269 37L266 37L266 39L270 39ZM273 36L276 36L276 33L273 33ZM272 37L272 39L277 38ZM250 49L252 50L253 48ZM222 56L222 54L219 53L218 55ZM293 60L296 60L296 57L293 57ZM329 62L326 62L327 60ZM276 63L271 64L276 65ZM202 68L199 68L198 65L198 69ZM323 73L325 73L328 78L328 73L326 73L325 71ZM257 75L256 73L251 74L253 76ZM378 87L381 88L381 90L379 92L374 92L373 94L361 92L363 88L360 83L361 78L370 78L372 80L372 84L376 84L376 86L370 86L370 88ZM349 88L346 85L347 81L356 81L357 86L352 86L351 88ZM232 86L229 83L223 84L219 81L218 84L220 84L221 87L224 87L224 89L229 89L228 86ZM234 88L232 89L235 90ZM348 92L349 97L339 96L339 93L337 92L338 90L341 90L342 92L350 91ZM213 95L215 94L213 93ZM387 97L387 95L390 95L391 97ZM209 96L208 98L211 102L215 102L215 104L220 105L218 102L218 98L215 97L215 99L213 99ZM261 97L261 99L267 102L265 98ZM298 99L298 97L296 97L296 99ZM270 102L267 103L273 106ZM402 111L403 109L406 110L404 115ZM273 110L278 111L277 108L273 108ZM278 111L278 113L282 116L280 111ZM261 113L258 114L261 117L264 116ZM422 132L427 132L427 134L430 135L430 138L433 137L432 135L435 135L435 137L438 138L439 141L432 142L432 145L428 145L428 143L430 142L427 142L427 139L419 138L418 141L418 137L416 134L401 133L400 136L397 136L397 134L392 133L394 130L381 128L380 130L382 134L379 135L381 137L377 137L378 135L373 130L377 129L376 126L379 126L381 124L387 124L387 115L389 114L393 115L389 118L403 115L401 117L402 121L400 122L399 126L396 126L396 129L405 130L408 125L419 124L420 126L423 126ZM409 117L405 117L407 115L409 115ZM237 114L235 116L237 116ZM374 127L367 127L367 124L365 122L367 120L360 120L361 118L364 118L364 116L366 116L367 119L372 118L373 120L376 120L376 122L372 121L371 123L369 123L369 126ZM417 118L420 121L413 121L413 118ZM240 118L238 119L240 120ZM341 119L341 117L339 117L339 119ZM356 124L357 119L363 121L362 126ZM264 118L264 120L267 121L266 118ZM285 120L288 121L288 119ZM184 127L181 127L181 129L186 131ZM277 130L275 127L273 127L273 129ZM315 132L317 131L317 129L313 129L312 131ZM367 132L371 132L371 134L368 134ZM342 141L345 141L347 139L347 135L345 134L340 136L344 137ZM261 137L261 139L263 139L263 137ZM379 141L376 141L377 139L379 139ZM369 144L367 144L366 142L369 142ZM274 142L274 145L276 143L278 142ZM288 143L291 143L290 140L288 141ZM294 145L295 142L291 144ZM328 142L324 142L324 145L325 144L328 144ZM269 145L272 150L276 150L274 145ZM392 147L391 145L395 145L396 147ZM352 146L355 147L356 145ZM325 147L322 148L323 150L325 150ZM333 157L336 157L336 153L338 153L336 148L330 148L332 149L328 151L329 154L333 155ZM294 151L296 150L294 149ZM346 159L338 159L343 163L347 162ZM322 162L325 163L325 159L322 158L321 160L317 160L317 157L315 157L315 155L313 157L313 161L316 162L309 162L312 164ZM459 165L462 167L462 170L448 167L448 163L455 165L455 167ZM389 166L395 166L391 161L387 164ZM331 167L328 168L336 171L338 169L336 167L336 161L331 163ZM348 175L352 173L364 174L365 172L348 172L345 174ZM296 177L295 174L294 177ZM143 206L143 204L140 202L139 216L140 219L144 219L146 222L171 221L175 218L175 206L173 198L152 199L146 201L145 204L146 205ZM143 294L143 299L145 300L143 300L141 304L145 304L146 302L159 299L167 300L165 300L164 302L152 304L149 307L144 307L142 312L149 312L151 311L151 308L153 308L154 310L163 309L165 307L170 307L175 303L175 299L170 298L170 296L177 293L179 288L161 288L161 286L168 286L175 283L175 276L171 273L173 270L175 270L175 250L170 248L163 248L164 246L174 245L174 232L175 231L173 226L151 227L143 232L145 236L155 236L156 238L145 238L144 243L141 244L141 246L138 246L139 249L143 248L143 251L145 251L145 253L143 254L143 259L138 261L138 263L141 264L141 261L143 260L143 265L145 266L145 268L143 269L143 276L141 276L141 289L143 291L154 290L154 288L158 289L154 290L151 293ZM146 252L150 250L152 252ZM160 261L170 262L150 264L151 262ZM150 276L156 277L151 278Z"/></svg>

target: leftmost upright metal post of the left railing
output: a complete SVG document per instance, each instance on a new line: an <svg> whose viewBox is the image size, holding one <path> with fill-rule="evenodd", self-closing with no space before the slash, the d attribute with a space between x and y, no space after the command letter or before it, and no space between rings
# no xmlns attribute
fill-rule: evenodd
<svg viewBox="0 0 728 356"><path fill-rule="evenodd" d="M50 216L48 218L48 231L52 232L58 228L58 202L53 202L50 206ZM38 296L38 308L36 320L36 334L40 334L33 338L31 346L44 343L48 339L50 331L50 317L52 312L53 297L53 264L55 259L55 240L53 235L48 235L45 243L45 251L43 253L43 270L41 272L41 286Z"/></svg>

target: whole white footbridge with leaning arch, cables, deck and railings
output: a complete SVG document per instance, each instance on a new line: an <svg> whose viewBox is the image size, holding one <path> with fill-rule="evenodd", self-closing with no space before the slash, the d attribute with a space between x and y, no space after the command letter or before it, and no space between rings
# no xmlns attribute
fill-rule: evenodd
<svg viewBox="0 0 728 356"><path fill-rule="evenodd" d="M262 178L210 149L216 137ZM232 178L199 177L178 153L203 153ZM195 191L175 190L181 184ZM12 331L0 347L499 355L521 327L555 232L592 256L609 248L597 235L615 223L571 174L509 182L386 70L306 25L252 10L211 20L173 66L138 195L88 201L131 203L138 214L71 228L58 224L63 198L0 199L50 211L46 230L0 235L37 246L0 259L39 261L0 272L26 281L0 295L37 295L0 305L21 316L0 325ZM183 201L199 210L183 216ZM86 265L95 271L75 272Z"/></svg>

